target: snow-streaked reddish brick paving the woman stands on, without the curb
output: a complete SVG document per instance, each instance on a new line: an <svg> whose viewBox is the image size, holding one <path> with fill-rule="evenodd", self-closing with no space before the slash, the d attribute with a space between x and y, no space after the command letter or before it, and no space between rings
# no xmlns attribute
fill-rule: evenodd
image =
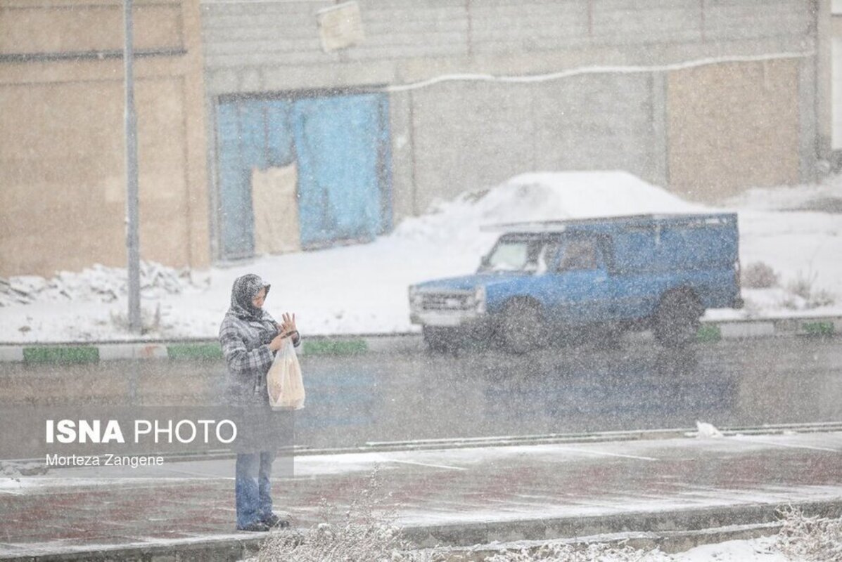
<svg viewBox="0 0 842 562"><path fill-rule="evenodd" d="M342 514L380 467L410 528L706 507L842 502L842 433L313 455L274 482L298 527ZM206 461L231 463L231 461ZM200 464L184 464L185 470ZM232 480L5 480L0 557L236 533ZM840 503L842 505L842 503ZM645 524L645 523L644 523ZM641 529L642 530L642 529ZM649 529L654 530L654 529ZM248 534L248 533L240 533Z"/></svg>

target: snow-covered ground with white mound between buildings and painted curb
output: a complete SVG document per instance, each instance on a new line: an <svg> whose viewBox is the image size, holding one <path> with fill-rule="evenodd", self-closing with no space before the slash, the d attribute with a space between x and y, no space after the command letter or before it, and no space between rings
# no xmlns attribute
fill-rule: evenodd
<svg viewBox="0 0 842 562"><path fill-rule="evenodd" d="M232 282L244 273L271 283L267 310L275 316L295 312L306 334L413 331L408 285L476 270L497 236L480 231L481 225L717 210L739 213L743 269L763 262L777 284L743 287L744 310L710 310L708 317L842 315L842 214L822 209L828 201L828 210L839 211L842 177L754 189L713 207L679 199L626 172L526 173L440 202L369 244L258 257L201 272L145 264L142 308L151 330L143 337L216 337ZM0 342L133 338L125 328L124 269L92 265L51 279L8 281L20 292L0 284Z"/></svg>

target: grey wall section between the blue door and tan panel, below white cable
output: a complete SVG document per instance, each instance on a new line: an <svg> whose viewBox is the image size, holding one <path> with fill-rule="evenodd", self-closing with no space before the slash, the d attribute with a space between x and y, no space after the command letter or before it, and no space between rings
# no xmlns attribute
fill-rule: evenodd
<svg viewBox="0 0 842 562"><path fill-rule="evenodd" d="M626 74L540 85L451 82L413 92L413 150L435 155L415 157L413 213L531 170L658 176L652 87L651 76Z"/></svg>

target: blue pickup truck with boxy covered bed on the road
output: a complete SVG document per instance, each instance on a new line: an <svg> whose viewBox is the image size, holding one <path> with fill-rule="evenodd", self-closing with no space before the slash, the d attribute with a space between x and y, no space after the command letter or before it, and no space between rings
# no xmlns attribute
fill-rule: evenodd
<svg viewBox="0 0 842 562"><path fill-rule="evenodd" d="M709 308L740 308L737 215L637 215L499 225L473 275L409 288L434 349L498 341L525 353L559 333L651 329L695 339Z"/></svg>

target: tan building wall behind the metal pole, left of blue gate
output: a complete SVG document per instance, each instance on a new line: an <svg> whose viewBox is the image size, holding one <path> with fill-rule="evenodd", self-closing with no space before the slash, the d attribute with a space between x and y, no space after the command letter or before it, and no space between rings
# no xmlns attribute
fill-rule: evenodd
<svg viewBox="0 0 842 562"><path fill-rule="evenodd" d="M209 262L199 6L136 2L141 258ZM0 0L0 275L125 266L122 2Z"/></svg>

